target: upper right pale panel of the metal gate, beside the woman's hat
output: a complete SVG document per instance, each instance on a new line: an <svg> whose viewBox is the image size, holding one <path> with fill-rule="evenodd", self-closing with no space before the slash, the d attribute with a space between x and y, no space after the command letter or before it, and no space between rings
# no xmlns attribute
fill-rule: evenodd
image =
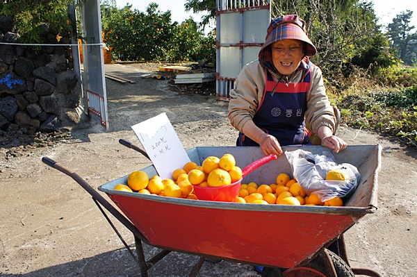
<svg viewBox="0 0 417 277"><path fill-rule="evenodd" d="M265 42L266 29L270 24L269 10L247 10L243 12L243 42Z"/></svg>

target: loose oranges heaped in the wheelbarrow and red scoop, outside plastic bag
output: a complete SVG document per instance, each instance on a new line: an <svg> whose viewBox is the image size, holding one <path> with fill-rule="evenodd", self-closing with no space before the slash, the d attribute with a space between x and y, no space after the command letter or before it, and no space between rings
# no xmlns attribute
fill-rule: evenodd
<svg viewBox="0 0 417 277"><path fill-rule="evenodd" d="M197 200L193 185L219 187L241 178L242 170L236 166L234 156L224 154L222 158L209 156L201 166L195 162L187 162L182 169L172 172L172 179L162 179L160 176L149 178L145 171L134 171L128 176L127 185L118 184L114 190ZM276 182L269 185L257 185L255 182L242 184L235 202L265 205L343 205L339 197L323 203L315 193L306 195L301 185L286 173L279 174Z"/></svg>

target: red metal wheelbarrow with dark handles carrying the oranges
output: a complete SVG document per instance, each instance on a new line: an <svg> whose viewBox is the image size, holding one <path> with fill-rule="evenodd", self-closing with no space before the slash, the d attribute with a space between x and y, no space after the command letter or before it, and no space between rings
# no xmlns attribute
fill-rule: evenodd
<svg viewBox="0 0 417 277"><path fill-rule="evenodd" d="M130 142L120 140L120 143L147 156ZM300 147L313 154L327 150L322 146L284 146L283 150L293 151ZM190 160L199 165L208 156L224 153L234 155L236 165L249 165L263 157L259 147L196 147L187 153ZM148 276L148 269L171 251L200 257L189 276L197 276L206 259L261 265L264 267L262 276L381 276L370 269L350 268L343 240L346 230L377 209L381 146L348 146L341 153L334 153L334 158L339 163L354 165L361 174L357 190L345 199L343 207L196 201L113 190L115 185L127 183L126 175L98 188L122 213L75 172L46 157L42 162L72 177L90 193L117 235L119 233L101 206L133 233L137 258L119 237L138 261L142 277ZM157 175L153 165L141 170L149 176ZM291 174L285 155L252 171L243 178L243 183L275 183L281 172ZM256 235L248 236L248 233ZM274 237L275 244L265 237ZM145 260L142 242L161 249L161 252Z"/></svg>

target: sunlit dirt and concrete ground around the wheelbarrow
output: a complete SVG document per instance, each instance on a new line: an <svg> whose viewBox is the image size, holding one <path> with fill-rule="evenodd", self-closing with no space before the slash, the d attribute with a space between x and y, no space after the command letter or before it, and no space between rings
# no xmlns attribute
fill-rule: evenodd
<svg viewBox="0 0 417 277"><path fill-rule="evenodd" d="M185 149L234 146L237 131L227 120L227 102L209 93L170 90L168 81L140 78L156 68L106 65L106 73L136 81L106 79L110 130L86 119L70 137L34 149L0 149L0 276L138 276L139 267L80 185L41 162L47 156L72 169L92 187L150 165L120 138L140 145L131 126L166 112ZM385 277L417 276L417 151L375 133L341 126L349 144L381 144L378 209L345 233L352 267ZM18 155L10 155L17 151ZM101 193L101 192L100 192ZM103 194L104 195L104 194ZM105 196L106 197L106 196ZM107 199L107 198L106 198ZM113 220L127 244L133 236ZM145 247L147 255L158 249ZM188 276L198 257L170 253L150 276ZM250 265L204 262L198 276L260 276Z"/></svg>

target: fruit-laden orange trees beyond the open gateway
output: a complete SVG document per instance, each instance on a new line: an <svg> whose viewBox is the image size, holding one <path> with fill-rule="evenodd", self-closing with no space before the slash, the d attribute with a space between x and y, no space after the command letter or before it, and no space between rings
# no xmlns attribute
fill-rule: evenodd
<svg viewBox="0 0 417 277"><path fill-rule="evenodd" d="M116 60L215 60L215 35L205 36L193 19L171 22L171 12L151 3L146 12L131 6L101 6L104 42Z"/></svg>

